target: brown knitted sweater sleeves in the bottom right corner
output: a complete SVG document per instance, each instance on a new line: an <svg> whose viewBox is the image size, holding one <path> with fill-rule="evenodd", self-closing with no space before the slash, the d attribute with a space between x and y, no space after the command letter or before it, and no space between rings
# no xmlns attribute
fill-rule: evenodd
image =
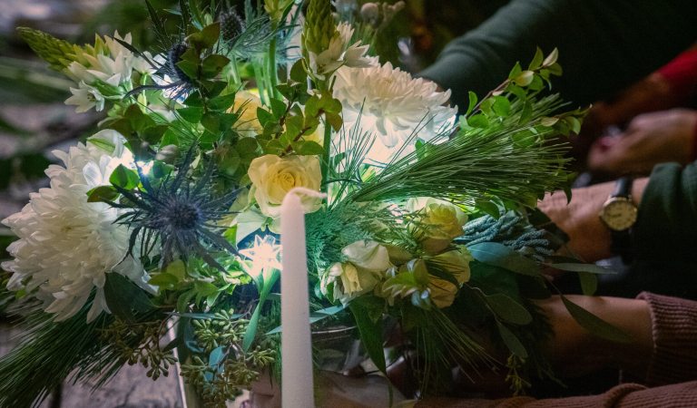
<svg viewBox="0 0 697 408"><path fill-rule="evenodd" d="M697 406L697 302L642 293L651 309L653 355L641 384L621 384L600 395L548 400L514 397L504 400L427 399L417 407L434 408L571 408ZM681 383L684 382L684 383ZM665 385L669 384L669 385ZM653 388L647 388L653 386Z"/></svg>

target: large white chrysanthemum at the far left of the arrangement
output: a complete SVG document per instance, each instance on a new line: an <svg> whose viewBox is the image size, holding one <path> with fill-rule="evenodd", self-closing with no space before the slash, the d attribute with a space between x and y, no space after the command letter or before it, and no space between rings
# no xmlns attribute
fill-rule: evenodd
<svg viewBox="0 0 697 408"><path fill-rule="evenodd" d="M7 287L37 289L35 296L56 320L74 316L94 288L87 320L108 312L103 292L107 273L120 273L144 286L142 265L125 257L129 231L113 223L119 210L101 202L88 203L86 195L96 186L109 184L119 164L132 165L133 155L116 131L100 131L90 141L67 152L54 151L64 166L51 165L46 170L51 187L33 193L22 211L2 221L20 238L7 248L14 259L2 264L13 272ZM110 146L111 151L104 150Z"/></svg>

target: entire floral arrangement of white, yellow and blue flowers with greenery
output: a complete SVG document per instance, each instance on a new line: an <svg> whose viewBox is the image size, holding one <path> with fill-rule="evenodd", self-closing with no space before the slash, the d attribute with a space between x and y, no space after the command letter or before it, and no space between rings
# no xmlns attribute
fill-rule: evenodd
<svg viewBox="0 0 697 408"><path fill-rule="evenodd" d="M3 220L18 238L7 289L28 332L0 359L0 404L41 401L68 375L98 386L123 364L156 379L177 362L211 406L278 374L280 296L294 296L279 289L280 212L295 188L317 193L299 196L313 330L346 328L382 372L384 333L398 332L391 358L418 355L422 395L444 392L454 366L506 365L516 392L553 375L532 302L555 290L542 269L579 272L589 292L602 272L555 257L563 241L535 211L567 187L560 136L584 114L546 92L556 51L470 94L456 119L448 91L374 53L402 2L145 5L159 49L20 28L74 81L65 103L106 116L54 151L50 187Z"/></svg>

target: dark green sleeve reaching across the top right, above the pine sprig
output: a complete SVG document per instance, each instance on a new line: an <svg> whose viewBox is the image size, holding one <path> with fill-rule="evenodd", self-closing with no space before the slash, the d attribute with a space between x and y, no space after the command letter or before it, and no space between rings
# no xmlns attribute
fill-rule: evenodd
<svg viewBox="0 0 697 408"><path fill-rule="evenodd" d="M554 91L574 105L603 99L667 63L697 39L695 0L513 0L456 38L420 76L466 106L524 67L539 46L559 49Z"/></svg>

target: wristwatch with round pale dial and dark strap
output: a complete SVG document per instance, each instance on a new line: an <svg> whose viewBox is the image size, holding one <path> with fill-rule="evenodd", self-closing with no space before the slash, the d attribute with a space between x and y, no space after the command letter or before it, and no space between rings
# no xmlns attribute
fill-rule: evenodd
<svg viewBox="0 0 697 408"><path fill-rule="evenodd" d="M612 234L610 249L614 254L622 256L624 262L632 260L631 232L638 213L632 200L632 182L631 177L617 180L614 192L604 202L600 211L600 219Z"/></svg>

